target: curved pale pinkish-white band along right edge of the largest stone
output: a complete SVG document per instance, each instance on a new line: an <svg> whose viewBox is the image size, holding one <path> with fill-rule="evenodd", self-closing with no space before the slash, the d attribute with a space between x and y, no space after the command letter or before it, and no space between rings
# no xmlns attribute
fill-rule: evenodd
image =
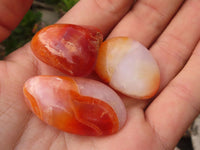
<svg viewBox="0 0 200 150"><path fill-rule="evenodd" d="M81 78L75 80L81 95L100 99L113 108L119 120L119 129L122 128L127 119L127 114L121 98L101 82Z"/></svg>

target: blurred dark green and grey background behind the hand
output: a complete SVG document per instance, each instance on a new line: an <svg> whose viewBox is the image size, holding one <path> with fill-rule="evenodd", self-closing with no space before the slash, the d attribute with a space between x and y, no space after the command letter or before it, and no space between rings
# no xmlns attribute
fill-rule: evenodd
<svg viewBox="0 0 200 150"><path fill-rule="evenodd" d="M55 23L79 0L34 0L11 36L0 43L0 60L31 40L41 28ZM200 150L200 117L190 126L175 150Z"/></svg>

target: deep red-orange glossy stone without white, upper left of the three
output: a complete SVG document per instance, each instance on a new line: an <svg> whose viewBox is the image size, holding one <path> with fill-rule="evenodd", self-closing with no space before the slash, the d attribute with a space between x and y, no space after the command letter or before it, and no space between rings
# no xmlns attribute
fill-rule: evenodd
<svg viewBox="0 0 200 150"><path fill-rule="evenodd" d="M54 24L40 30L31 48L44 63L72 76L86 76L94 68L101 32L93 27Z"/></svg>

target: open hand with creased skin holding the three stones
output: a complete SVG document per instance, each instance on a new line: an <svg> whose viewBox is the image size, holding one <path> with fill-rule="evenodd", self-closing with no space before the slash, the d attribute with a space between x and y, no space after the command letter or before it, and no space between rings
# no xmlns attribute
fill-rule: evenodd
<svg viewBox="0 0 200 150"><path fill-rule="evenodd" d="M64 74L38 61L27 44L0 62L1 149L172 150L175 147L200 112L200 1L133 2L80 0L59 23L95 26L104 37L128 36L148 47L161 71L160 93L151 104L122 96L128 120L112 136L85 137L52 128L30 112L22 87L34 75ZM16 4L0 0L0 6L6 8L0 9L0 26L16 26L31 1L27 3L26 6L23 0ZM3 15L15 14L8 9L13 6L20 12L16 20ZM8 36L5 29L2 31L5 32L0 32L1 40Z"/></svg>

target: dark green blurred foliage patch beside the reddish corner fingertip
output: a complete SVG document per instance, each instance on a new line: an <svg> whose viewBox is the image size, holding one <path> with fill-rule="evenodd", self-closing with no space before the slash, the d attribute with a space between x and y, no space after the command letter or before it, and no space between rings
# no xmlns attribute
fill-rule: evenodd
<svg viewBox="0 0 200 150"><path fill-rule="evenodd" d="M23 46L31 40L34 35L33 28L36 23L41 21L41 13L29 10L24 16L18 27L12 34L2 43L5 46L6 55L15 49Z"/></svg>

